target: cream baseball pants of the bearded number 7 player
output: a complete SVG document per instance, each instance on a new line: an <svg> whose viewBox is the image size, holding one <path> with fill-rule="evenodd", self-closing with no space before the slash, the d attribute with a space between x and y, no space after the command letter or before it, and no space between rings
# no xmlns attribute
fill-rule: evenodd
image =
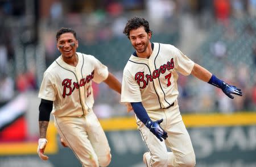
<svg viewBox="0 0 256 167"><path fill-rule="evenodd" d="M195 166L196 158L191 139L180 115L177 101L175 105L158 111L147 111L152 120L163 118L160 126L168 133L164 141L160 141L144 124L137 119L138 130L146 143L147 166ZM172 152L167 151L167 147Z"/></svg>

